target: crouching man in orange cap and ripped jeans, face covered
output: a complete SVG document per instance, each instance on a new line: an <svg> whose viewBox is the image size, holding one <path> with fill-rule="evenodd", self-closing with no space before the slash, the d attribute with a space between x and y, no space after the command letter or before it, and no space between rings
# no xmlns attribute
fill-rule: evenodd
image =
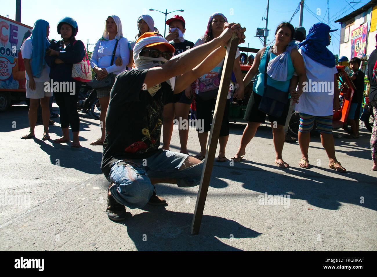
<svg viewBox="0 0 377 277"><path fill-rule="evenodd" d="M110 219L124 220L124 206L164 204L153 184L199 184L202 161L158 148L165 100L219 64L233 33L242 43L245 30L225 23L218 38L176 57L174 47L160 34L146 32L138 38L133 49L136 70L116 77L106 113L101 170L111 182L106 210Z"/></svg>

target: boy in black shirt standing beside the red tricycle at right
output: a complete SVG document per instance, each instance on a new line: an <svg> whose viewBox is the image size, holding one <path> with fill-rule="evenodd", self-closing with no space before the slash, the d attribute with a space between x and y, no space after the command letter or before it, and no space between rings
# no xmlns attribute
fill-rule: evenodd
<svg viewBox="0 0 377 277"><path fill-rule="evenodd" d="M352 69L351 80L353 81L356 90L352 96L351 107L349 108L348 119L351 125L351 135L344 136L345 138L359 138L359 118L360 108L363 103L364 94L364 78L365 74L359 70L361 60L359 58L352 58L349 61L349 67Z"/></svg>

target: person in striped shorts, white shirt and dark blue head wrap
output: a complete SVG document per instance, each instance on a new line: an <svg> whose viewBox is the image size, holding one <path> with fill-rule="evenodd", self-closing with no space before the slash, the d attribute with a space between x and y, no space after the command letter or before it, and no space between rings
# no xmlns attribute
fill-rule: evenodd
<svg viewBox="0 0 377 277"><path fill-rule="evenodd" d="M339 109L339 90L335 58L326 46L330 44L330 27L324 23L314 24L306 40L299 44L307 81L304 82L303 93L295 110L300 112L299 144L302 158L299 166L309 167L308 150L310 131L314 120L321 133L321 142L329 158L329 167L345 173L346 169L340 165L335 157L333 130L333 113Z"/></svg>

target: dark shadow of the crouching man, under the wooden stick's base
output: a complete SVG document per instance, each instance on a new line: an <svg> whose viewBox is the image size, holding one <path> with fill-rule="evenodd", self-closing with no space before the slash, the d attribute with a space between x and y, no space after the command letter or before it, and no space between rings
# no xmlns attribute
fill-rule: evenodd
<svg viewBox="0 0 377 277"><path fill-rule="evenodd" d="M262 233L251 230L234 220L204 215L199 235L192 235L193 214L167 211L164 207L145 207L146 212L127 219L127 233L139 251L240 251L236 239L258 237ZM227 238L228 244L218 238Z"/></svg>

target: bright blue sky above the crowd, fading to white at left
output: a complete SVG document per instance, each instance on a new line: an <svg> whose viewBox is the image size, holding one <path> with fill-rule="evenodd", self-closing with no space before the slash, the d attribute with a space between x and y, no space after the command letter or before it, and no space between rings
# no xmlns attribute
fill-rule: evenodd
<svg viewBox="0 0 377 277"><path fill-rule="evenodd" d="M339 28L338 31L332 33L331 44L328 46L329 50L334 54L339 54L339 36L340 24L334 23L335 20L351 13L354 9L362 7L363 3L350 3L351 0L331 0L329 1L329 18L331 28ZM271 29L269 40L274 39L276 27L282 21L289 21L297 6L299 0L270 0L270 9L268 14L268 29ZM368 2L365 0L354 0L354 2ZM174 3L174 5L172 5ZM303 13L303 26L307 32L309 28L316 22L322 21L328 24L327 0L305 0ZM3 16L9 15L9 18L15 19L15 0L0 0L0 14ZM353 8L352 8L353 7ZM207 27L209 16L213 12L223 13L229 22L241 23L243 27L247 28L245 33L246 43L241 46L253 48L261 48L262 43L259 38L254 37L256 28L264 28L265 20L262 17L266 16L267 0L259 1L103 1L91 0L89 2L78 0L61 1L43 1L43 0L22 0L21 7L21 22L29 26L33 26L35 20L42 18L50 23L49 38L60 39L57 34L57 22L64 16L75 18L78 23L78 34L76 38L82 40L86 45L95 43L101 37L104 30L104 21L107 16L115 14L118 15L122 21L123 36L129 40L134 40L137 33L137 19L143 14L151 15L155 21L155 26L160 33L164 33L165 15L157 11L149 11L149 9L158 9L160 11L168 12L183 9L184 12L173 12L167 15L167 18L175 14L184 17L186 21L185 38L195 43L199 37L204 35ZM308 10L312 11L311 14ZM320 20L318 19L320 18ZM323 18L323 19L322 19ZM293 17L291 23L293 26L299 24L299 12ZM167 26L168 27L168 26ZM270 41L267 41L269 43ZM92 50L93 46L89 46Z"/></svg>

